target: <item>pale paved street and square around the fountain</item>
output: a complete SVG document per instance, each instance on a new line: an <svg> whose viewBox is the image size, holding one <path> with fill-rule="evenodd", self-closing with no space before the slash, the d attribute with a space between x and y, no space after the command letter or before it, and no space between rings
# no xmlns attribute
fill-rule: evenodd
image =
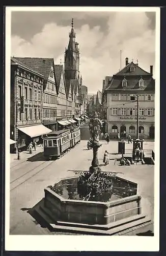
<svg viewBox="0 0 166 256"><path fill-rule="evenodd" d="M109 152L109 165L101 166L102 170L120 172L118 176L137 182L138 193L143 197L143 206L151 214L153 220L154 208L154 165L134 164L119 166L115 163L118 157L118 141L101 141L98 159L102 165L103 153ZM126 143L126 148L132 148ZM144 148L154 149L154 142L145 142ZM53 234L33 218L28 211L44 197L44 188L54 184L60 178L74 175L69 170L87 170L91 165L93 152L87 150L87 141L82 140L69 153L56 161L45 161L43 147L37 147L37 152L31 156L28 152L11 155L10 170L10 233L11 234ZM36 155L35 155L36 154ZM27 159L29 158L29 159ZM145 207L143 207L145 209ZM151 226L152 228L152 226ZM145 229L145 228L144 228ZM150 229L150 228L149 228ZM147 231L147 230L146 230ZM136 231L135 231L136 232ZM138 229L138 233L140 233ZM59 234L59 233L56 233Z"/></svg>

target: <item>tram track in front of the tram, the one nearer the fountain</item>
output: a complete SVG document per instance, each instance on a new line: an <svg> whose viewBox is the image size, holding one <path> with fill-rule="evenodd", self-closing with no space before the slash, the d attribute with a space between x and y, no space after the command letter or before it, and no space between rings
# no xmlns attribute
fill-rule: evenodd
<svg viewBox="0 0 166 256"><path fill-rule="evenodd" d="M36 166L36 167L32 168L31 170L29 170L28 172L24 173L23 175L17 177L15 180L11 181L11 182L10 182L10 186L13 186L14 183L16 183L16 185L14 185L12 188L10 188L10 191L14 190L14 189L17 188L18 186L20 186L20 185L22 185L23 183L25 183L27 180L30 180L32 177L34 177L35 175L37 175L37 174L39 174L40 172L42 172L42 170L46 169L46 168L47 168L48 166L50 166L53 162L54 162L54 161L49 161L49 163L48 163L48 161L44 161L44 162L42 162L41 164L39 164L38 166ZM48 164L45 165L45 163L48 163ZM39 167L40 167L41 165L43 165L43 164L44 164L44 167L39 168ZM28 178L23 179L25 176L29 176L29 174L30 174L31 172L33 172L33 170L38 169L38 168L39 168L39 170L38 170L37 172L35 172L33 175L31 175L31 176L28 177ZM22 179L22 181L21 181L20 183L18 183L18 181L19 181L20 179ZM18 183L18 184L17 184L17 183Z"/></svg>

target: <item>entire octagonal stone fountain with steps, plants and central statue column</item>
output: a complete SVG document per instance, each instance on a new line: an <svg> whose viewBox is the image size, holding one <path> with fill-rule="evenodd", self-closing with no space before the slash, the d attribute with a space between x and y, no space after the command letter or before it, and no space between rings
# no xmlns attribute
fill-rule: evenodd
<svg viewBox="0 0 166 256"><path fill-rule="evenodd" d="M150 221L141 213L137 184L100 169L97 153L101 126L95 113L89 123L93 148L89 171L45 188L44 200L36 207L56 230L110 235Z"/></svg>

